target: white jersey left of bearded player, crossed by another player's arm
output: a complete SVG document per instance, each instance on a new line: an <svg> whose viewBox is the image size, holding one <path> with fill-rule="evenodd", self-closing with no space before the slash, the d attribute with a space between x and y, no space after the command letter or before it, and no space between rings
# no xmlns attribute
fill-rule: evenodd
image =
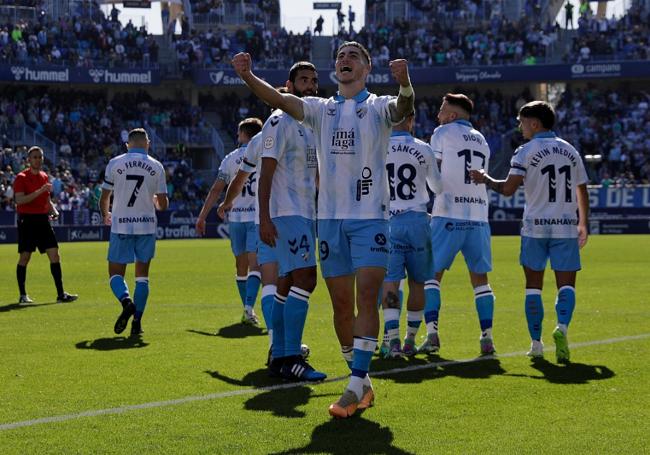
<svg viewBox="0 0 650 455"><path fill-rule="evenodd" d="M247 145L230 152L221 161L217 178L230 184L232 179L237 175L237 171L244 159ZM245 223L255 221L255 199L257 195L257 173L253 172L248 176L248 180L242 189L241 194L233 201L232 209L228 212L228 221L236 223Z"/></svg>

